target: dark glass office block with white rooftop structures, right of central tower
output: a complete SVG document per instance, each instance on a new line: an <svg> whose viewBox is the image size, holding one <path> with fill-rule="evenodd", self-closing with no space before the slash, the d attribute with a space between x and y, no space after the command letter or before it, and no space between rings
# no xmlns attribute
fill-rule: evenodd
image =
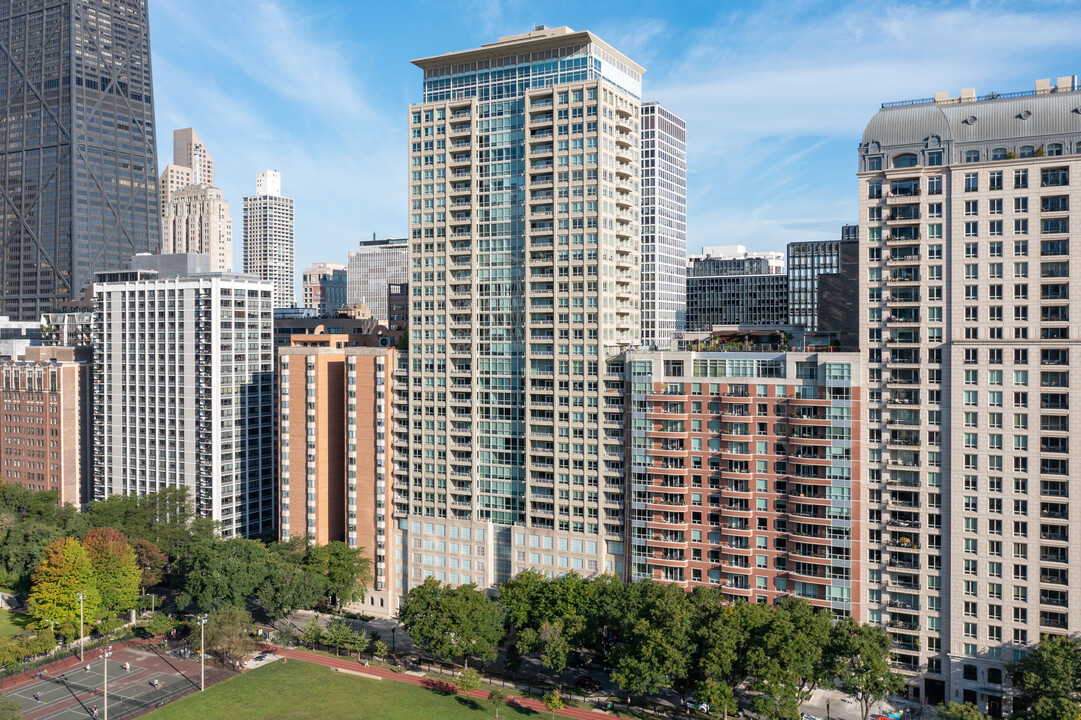
<svg viewBox="0 0 1081 720"><path fill-rule="evenodd" d="M692 255L686 274L686 330L787 324L784 257L775 252L748 253L743 245L708 246Z"/></svg>

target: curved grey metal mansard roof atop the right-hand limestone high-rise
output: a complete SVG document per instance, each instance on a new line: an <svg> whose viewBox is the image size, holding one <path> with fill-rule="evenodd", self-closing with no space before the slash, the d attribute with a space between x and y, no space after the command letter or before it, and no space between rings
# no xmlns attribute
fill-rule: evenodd
<svg viewBox="0 0 1081 720"><path fill-rule="evenodd" d="M945 144L989 143L1081 133L1081 92L1053 92L882 108L864 130L863 145L922 144L937 135Z"/></svg>

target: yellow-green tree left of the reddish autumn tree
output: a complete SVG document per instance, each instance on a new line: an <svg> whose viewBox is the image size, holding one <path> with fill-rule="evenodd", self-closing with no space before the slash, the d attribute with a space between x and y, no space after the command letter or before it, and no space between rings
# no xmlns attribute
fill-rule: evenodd
<svg viewBox="0 0 1081 720"><path fill-rule="evenodd" d="M94 582L94 569L79 541L64 537L50 544L34 569L27 609L43 626L50 621L74 635L79 627L79 594L83 595L82 614L89 627L101 614L102 600Z"/></svg>

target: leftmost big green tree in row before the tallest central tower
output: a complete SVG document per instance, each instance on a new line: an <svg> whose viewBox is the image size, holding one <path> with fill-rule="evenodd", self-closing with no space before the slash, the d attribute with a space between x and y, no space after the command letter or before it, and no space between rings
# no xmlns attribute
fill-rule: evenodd
<svg viewBox="0 0 1081 720"><path fill-rule="evenodd" d="M450 587L429 577L405 596L398 618L413 642L444 659L495 659L503 610L473 584Z"/></svg>

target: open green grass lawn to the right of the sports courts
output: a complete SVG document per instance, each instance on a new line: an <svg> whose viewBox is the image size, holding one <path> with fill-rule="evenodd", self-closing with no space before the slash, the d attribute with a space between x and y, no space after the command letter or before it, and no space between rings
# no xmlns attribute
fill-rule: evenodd
<svg viewBox="0 0 1081 720"><path fill-rule="evenodd" d="M361 669L361 668L358 668ZM443 695L393 680L368 680L310 663L273 663L230 678L146 716L152 720L481 720L492 718L490 703ZM501 718L537 714L506 708Z"/></svg>

